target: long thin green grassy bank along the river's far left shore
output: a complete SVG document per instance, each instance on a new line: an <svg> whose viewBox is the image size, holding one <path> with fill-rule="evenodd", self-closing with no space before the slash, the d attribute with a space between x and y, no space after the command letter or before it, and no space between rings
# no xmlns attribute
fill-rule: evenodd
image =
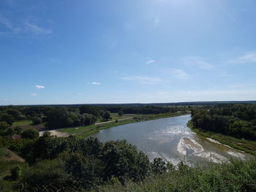
<svg viewBox="0 0 256 192"><path fill-rule="evenodd" d="M61 128L58 131L76 135L78 137L89 137L91 134L96 134L98 131L103 130L105 128L121 126L129 123L137 123L137 122L146 121L146 120L171 118L171 117L176 117L176 116L186 115L186 114L189 114L189 112L174 112L174 113L168 112L168 113L161 113L157 115L139 115L138 118L135 117L127 120L118 120L117 122L110 121L109 123L106 122L101 125L79 126L76 128Z"/></svg>

